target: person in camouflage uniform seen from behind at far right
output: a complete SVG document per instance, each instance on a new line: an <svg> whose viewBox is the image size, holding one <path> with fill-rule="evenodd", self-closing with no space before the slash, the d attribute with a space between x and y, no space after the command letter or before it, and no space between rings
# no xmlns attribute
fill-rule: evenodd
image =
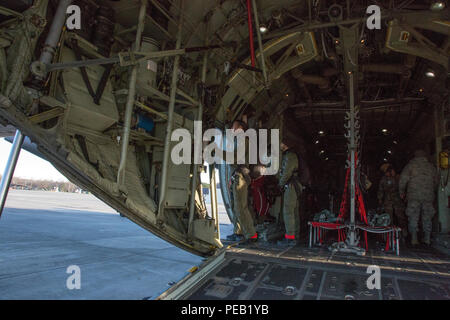
<svg viewBox="0 0 450 320"><path fill-rule="evenodd" d="M431 219L435 214L433 201L438 184L436 168L428 161L423 150L417 150L414 158L406 165L400 175L399 192L408 205L409 232L411 244L417 245L417 227L422 210L423 242L430 245Z"/></svg>

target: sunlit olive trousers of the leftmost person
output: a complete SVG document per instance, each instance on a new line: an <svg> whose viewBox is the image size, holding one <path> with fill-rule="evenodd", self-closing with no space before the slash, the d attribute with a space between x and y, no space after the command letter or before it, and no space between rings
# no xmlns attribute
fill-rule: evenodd
<svg viewBox="0 0 450 320"><path fill-rule="evenodd" d="M234 233L250 239L256 233L253 217L248 207L248 183L240 172L234 174L231 182L233 193Z"/></svg>

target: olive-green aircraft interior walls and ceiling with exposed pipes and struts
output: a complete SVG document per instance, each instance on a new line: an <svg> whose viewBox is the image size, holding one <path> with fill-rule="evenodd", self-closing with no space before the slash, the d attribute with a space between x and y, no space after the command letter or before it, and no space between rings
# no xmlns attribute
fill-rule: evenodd
<svg viewBox="0 0 450 320"><path fill-rule="evenodd" d="M203 256L223 247L217 190L235 219L233 169L209 165L208 210L204 165L171 161L176 129L278 129L300 159L305 243L317 213L339 213L350 167L369 212L380 167L421 149L440 177L433 233L448 234L449 18L431 0L0 0L2 135Z"/></svg>

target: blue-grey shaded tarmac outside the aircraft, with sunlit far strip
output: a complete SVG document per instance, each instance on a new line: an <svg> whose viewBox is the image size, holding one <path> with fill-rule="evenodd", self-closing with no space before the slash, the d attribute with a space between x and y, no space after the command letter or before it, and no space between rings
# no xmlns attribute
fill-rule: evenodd
<svg viewBox="0 0 450 320"><path fill-rule="evenodd" d="M0 299L154 299L202 259L90 194L11 190L0 219ZM80 289L67 288L72 265Z"/></svg>

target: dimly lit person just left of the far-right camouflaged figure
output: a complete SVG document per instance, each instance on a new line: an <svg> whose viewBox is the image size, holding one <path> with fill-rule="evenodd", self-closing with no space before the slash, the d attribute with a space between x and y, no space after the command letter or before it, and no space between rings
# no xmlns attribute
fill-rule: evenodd
<svg viewBox="0 0 450 320"><path fill-rule="evenodd" d="M384 176L378 185L378 203L384 207L386 213L391 218L391 225L394 225L394 217L397 224L402 228L403 239L408 235L408 219L405 216L405 205L398 193L399 175L391 165L382 168Z"/></svg>

